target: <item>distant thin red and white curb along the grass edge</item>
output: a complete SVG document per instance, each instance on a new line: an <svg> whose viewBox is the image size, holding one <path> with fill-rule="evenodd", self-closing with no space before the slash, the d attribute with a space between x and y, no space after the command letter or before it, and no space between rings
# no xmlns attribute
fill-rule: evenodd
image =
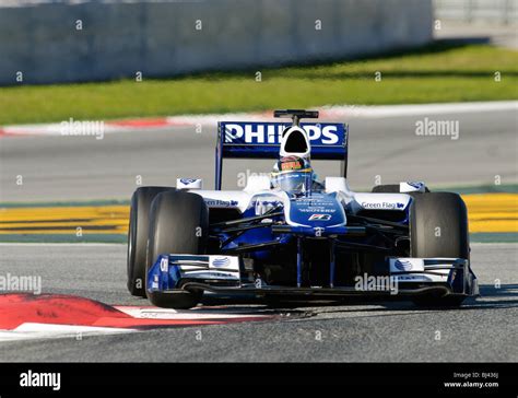
<svg viewBox="0 0 518 398"><path fill-rule="evenodd" d="M473 103L443 103L381 106L323 106L313 107L320 112L322 120L351 118L389 118L419 115L471 114L484 112L518 110L518 101L493 101ZM103 122L103 134L114 132L157 131L170 127L216 126L217 121L267 121L272 120L272 110L261 113L180 115L155 118L109 120ZM63 122L70 122L64 120ZM5 136L63 136L61 122L42 125L0 126L0 137Z"/></svg>

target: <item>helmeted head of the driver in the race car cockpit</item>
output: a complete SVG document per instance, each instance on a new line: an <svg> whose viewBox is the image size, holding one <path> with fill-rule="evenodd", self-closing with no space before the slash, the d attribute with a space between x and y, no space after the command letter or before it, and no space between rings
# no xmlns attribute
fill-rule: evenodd
<svg viewBox="0 0 518 398"><path fill-rule="evenodd" d="M298 156L281 157L273 166L272 187L290 194L307 192L311 187L309 161Z"/></svg>

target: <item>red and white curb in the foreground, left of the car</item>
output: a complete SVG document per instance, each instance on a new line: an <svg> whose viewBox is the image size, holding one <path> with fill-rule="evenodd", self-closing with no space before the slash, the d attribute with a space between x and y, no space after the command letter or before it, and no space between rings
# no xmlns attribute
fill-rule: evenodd
<svg viewBox="0 0 518 398"><path fill-rule="evenodd" d="M195 327L273 320L276 314L225 307L175 311L151 306L109 306L62 294L1 294L0 342L137 332L163 327Z"/></svg>

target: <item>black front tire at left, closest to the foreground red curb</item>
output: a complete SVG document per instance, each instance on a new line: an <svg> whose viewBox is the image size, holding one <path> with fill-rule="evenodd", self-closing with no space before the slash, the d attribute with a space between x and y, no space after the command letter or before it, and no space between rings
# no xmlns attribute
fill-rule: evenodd
<svg viewBox="0 0 518 398"><path fill-rule="evenodd" d="M151 206L146 277L160 255L204 254L208 230L209 209L201 196L185 191L160 194ZM177 309L196 306L203 294L181 290L146 293L153 305Z"/></svg>

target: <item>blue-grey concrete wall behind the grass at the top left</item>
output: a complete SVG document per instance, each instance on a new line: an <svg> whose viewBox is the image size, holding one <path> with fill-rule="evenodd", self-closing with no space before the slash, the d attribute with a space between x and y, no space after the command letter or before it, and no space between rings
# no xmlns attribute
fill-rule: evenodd
<svg viewBox="0 0 518 398"><path fill-rule="evenodd" d="M145 79L353 58L432 39L432 0L48 1L0 5L0 84L17 84L17 71L24 83L137 71Z"/></svg>

